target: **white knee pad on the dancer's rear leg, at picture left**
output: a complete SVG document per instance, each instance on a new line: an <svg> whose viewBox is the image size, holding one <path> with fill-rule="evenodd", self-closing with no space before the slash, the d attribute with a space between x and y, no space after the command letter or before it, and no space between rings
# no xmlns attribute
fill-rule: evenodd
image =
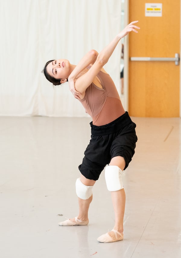
<svg viewBox="0 0 181 258"><path fill-rule="evenodd" d="M83 200L89 199L90 196L92 195L93 186L84 185L81 182L80 178L77 178L76 183L75 183L75 188L76 188L77 196Z"/></svg>

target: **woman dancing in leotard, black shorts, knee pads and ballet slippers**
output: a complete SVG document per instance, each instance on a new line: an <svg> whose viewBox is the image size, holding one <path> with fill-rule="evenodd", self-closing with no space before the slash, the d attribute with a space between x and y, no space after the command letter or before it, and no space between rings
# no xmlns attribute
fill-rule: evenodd
<svg viewBox="0 0 181 258"><path fill-rule="evenodd" d="M77 217L60 222L60 226L87 225L88 209L92 201L92 188L105 168L105 179L111 192L115 213L113 230L97 240L102 243L123 240L123 217L125 211L125 191L122 171L128 167L135 153L137 136L135 123L123 109L116 86L103 66L109 60L121 38L130 31L138 33L133 21L127 25L113 41L99 54L90 50L78 63L72 65L66 59L50 60L44 67L46 78L54 85L68 80L69 89L92 117L91 139L79 165L80 178L76 181L79 214Z"/></svg>

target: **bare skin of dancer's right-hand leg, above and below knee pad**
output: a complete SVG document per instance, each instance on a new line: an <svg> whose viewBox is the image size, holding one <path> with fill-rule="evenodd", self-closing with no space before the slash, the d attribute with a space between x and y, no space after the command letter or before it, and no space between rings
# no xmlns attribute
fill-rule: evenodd
<svg viewBox="0 0 181 258"><path fill-rule="evenodd" d="M121 156L117 156L112 158L110 165L118 166L123 169L125 168L125 160ZM113 229L117 230L119 233L123 233L123 218L125 212L125 191L121 189L119 191L111 192L111 198L113 202L113 208L115 213L115 225ZM113 231L109 232L109 235L115 238L115 234Z"/></svg>

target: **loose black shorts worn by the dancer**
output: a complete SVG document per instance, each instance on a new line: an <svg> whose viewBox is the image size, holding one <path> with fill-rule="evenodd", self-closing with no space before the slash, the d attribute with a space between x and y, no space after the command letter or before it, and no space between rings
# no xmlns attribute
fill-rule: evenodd
<svg viewBox="0 0 181 258"><path fill-rule="evenodd" d="M84 152L79 170L87 179L98 180L104 167L116 156L125 159L125 168L135 153L137 136L136 124L132 122L128 112L103 126L95 126L90 122L91 139Z"/></svg>

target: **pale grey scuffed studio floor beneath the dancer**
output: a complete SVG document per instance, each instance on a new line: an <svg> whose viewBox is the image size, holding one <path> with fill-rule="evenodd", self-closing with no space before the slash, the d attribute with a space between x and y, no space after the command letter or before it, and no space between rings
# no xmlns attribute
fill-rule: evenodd
<svg viewBox="0 0 181 258"><path fill-rule="evenodd" d="M78 215L75 181L90 140L89 118L0 117L1 258L181 257L181 119L138 118L125 170L124 240L99 243L114 213L104 171L89 225Z"/></svg>

